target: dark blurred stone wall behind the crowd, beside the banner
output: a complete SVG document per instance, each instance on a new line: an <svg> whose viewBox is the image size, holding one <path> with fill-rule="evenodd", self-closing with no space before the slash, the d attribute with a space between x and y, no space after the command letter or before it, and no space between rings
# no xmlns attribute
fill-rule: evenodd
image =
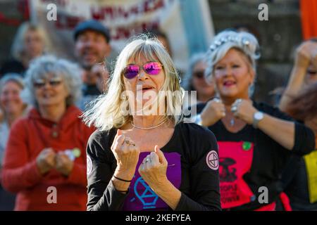
<svg viewBox="0 0 317 225"><path fill-rule="evenodd" d="M193 0L199 1L199 0ZM22 20L19 0L0 0L0 12L7 18ZM258 6L268 4L268 21L259 21ZM292 69L292 54L302 41L298 0L209 0L215 32L235 25L251 25L259 33L259 60L254 98L274 103L269 95L284 86ZM8 58L17 27L0 23L0 64Z"/></svg>

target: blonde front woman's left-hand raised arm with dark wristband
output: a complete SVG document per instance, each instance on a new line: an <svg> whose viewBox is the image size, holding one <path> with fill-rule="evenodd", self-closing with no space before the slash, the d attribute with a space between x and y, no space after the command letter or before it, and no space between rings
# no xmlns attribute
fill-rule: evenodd
<svg viewBox="0 0 317 225"><path fill-rule="evenodd" d="M87 146L87 210L121 210L128 195L130 180L139 160L137 146L128 145L118 130L111 150L114 158L106 154L100 141L89 139Z"/></svg>

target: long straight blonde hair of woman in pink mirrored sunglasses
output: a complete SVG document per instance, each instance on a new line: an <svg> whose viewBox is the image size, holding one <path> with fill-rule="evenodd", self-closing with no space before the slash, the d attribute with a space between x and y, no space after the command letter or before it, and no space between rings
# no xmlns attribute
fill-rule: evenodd
<svg viewBox="0 0 317 225"><path fill-rule="evenodd" d="M132 115L125 115L122 108L128 104L124 95L123 70L133 60L144 56L149 61L158 61L163 65L166 75L160 91L172 91L173 95L166 97L167 108L181 108L184 90L180 86L180 76L173 64L170 55L164 46L156 38L147 35L139 35L130 41L120 52L116 66L108 80L108 91L90 104L83 114L83 119L88 126L92 124L99 130L109 130L113 127L120 128L132 120ZM175 125L182 119L179 111L173 111L170 115L164 115L166 120Z"/></svg>

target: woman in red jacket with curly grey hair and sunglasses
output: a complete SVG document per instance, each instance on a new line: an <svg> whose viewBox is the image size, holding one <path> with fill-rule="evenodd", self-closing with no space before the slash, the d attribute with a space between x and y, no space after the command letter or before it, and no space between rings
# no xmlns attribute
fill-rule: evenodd
<svg viewBox="0 0 317 225"><path fill-rule="evenodd" d="M2 182L18 193L15 210L85 210L87 140L94 129L75 107L80 72L67 60L42 56L27 71L24 97L35 108L11 129Z"/></svg>

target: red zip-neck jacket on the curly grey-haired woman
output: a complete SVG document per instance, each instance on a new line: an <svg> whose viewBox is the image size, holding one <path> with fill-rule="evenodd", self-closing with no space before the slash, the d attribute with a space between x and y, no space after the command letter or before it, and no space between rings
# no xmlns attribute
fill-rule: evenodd
<svg viewBox="0 0 317 225"><path fill-rule="evenodd" d="M15 210L86 210L86 145L93 128L78 117L81 111L70 106L60 122L46 120L32 109L27 117L13 124L8 138L2 185L18 193ZM42 176L36 165L37 155L51 147L56 152L79 148L69 176L51 169ZM49 186L56 187L57 203L48 203ZM51 199L51 198L49 198Z"/></svg>

